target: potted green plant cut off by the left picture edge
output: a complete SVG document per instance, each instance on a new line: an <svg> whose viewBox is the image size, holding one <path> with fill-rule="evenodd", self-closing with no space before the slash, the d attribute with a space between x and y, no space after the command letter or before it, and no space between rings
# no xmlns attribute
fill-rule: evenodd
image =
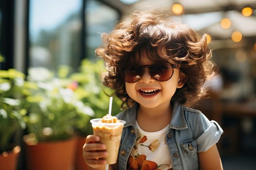
<svg viewBox="0 0 256 170"><path fill-rule="evenodd" d="M16 69L0 70L0 170L15 170L20 146L16 132L25 128L25 75Z"/></svg>

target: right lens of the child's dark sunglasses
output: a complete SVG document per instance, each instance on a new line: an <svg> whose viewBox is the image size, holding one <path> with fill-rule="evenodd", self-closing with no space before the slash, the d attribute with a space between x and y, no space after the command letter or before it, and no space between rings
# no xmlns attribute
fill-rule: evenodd
<svg viewBox="0 0 256 170"><path fill-rule="evenodd" d="M170 63L162 62L149 67L150 75L159 82L169 80L173 75L173 68Z"/></svg>

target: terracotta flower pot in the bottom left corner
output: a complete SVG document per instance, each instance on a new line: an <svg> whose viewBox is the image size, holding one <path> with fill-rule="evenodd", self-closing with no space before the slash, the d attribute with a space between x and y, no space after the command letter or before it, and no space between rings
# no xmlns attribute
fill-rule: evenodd
<svg viewBox="0 0 256 170"><path fill-rule="evenodd" d="M0 170L16 170L20 146L14 147L9 152L0 153Z"/></svg>

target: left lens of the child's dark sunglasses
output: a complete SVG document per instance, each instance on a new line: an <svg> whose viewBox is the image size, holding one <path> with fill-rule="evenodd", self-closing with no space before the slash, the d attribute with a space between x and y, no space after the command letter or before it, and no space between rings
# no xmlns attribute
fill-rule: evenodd
<svg viewBox="0 0 256 170"><path fill-rule="evenodd" d="M128 83L137 82L142 75L142 72L143 72L142 69L143 67L136 66L136 65L131 65L125 68L125 71L124 71L125 82L128 82Z"/></svg>

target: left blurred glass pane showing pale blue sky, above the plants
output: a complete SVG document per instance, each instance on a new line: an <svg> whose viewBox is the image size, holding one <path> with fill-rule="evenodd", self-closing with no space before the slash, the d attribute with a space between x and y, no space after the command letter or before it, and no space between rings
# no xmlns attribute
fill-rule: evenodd
<svg viewBox="0 0 256 170"><path fill-rule="evenodd" d="M29 67L78 68L82 0L30 0Z"/></svg>

